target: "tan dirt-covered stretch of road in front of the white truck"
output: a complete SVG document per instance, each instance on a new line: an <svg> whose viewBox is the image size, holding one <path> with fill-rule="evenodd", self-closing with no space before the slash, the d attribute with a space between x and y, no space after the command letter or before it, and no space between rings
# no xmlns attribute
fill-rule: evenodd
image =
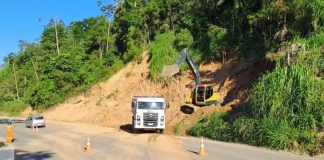
<svg viewBox="0 0 324 160"><path fill-rule="evenodd" d="M113 129L82 123L46 121L38 134L15 121L15 159L192 159L181 148L181 140L157 133L128 133L128 128ZM6 119L0 118L0 137L5 138ZM93 147L85 152L87 138ZM0 155L1 160L1 155Z"/></svg>

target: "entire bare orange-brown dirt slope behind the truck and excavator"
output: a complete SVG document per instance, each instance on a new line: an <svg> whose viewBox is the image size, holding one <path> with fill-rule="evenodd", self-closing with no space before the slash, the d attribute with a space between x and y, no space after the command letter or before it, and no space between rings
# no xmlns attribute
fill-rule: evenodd
<svg viewBox="0 0 324 160"><path fill-rule="evenodd" d="M246 98L248 88L260 73L267 70L264 63L229 61L224 65L210 62L199 66L203 83L214 84L221 94L222 107L195 107L192 115L180 111L184 98L193 85L190 71L176 75L168 86L149 79L149 54L143 53L141 63L129 63L109 80L95 85L88 91L66 100L44 112L48 119L96 123L119 128L131 123L131 98L139 95L164 96L170 103L167 108L167 133L177 124L191 126L200 115L215 110L230 110ZM199 111L198 111L199 110ZM187 127L186 127L187 126ZM183 134L184 131L180 134Z"/></svg>

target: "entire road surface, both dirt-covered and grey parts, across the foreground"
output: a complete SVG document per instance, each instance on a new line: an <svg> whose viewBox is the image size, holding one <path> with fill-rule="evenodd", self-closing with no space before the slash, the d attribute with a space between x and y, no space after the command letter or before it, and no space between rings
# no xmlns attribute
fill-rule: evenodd
<svg viewBox="0 0 324 160"><path fill-rule="evenodd" d="M198 156L200 140L192 137L176 137L156 133L129 133L129 126L121 129L81 123L47 121L45 128L35 134L25 128L24 121L15 120L16 159L104 159L104 160L217 160L217 159L324 159L311 158L292 153L271 151L246 145L205 141L208 155ZM5 118L0 117L0 137L5 137ZM93 146L85 152L87 138ZM1 159L1 155L0 155Z"/></svg>

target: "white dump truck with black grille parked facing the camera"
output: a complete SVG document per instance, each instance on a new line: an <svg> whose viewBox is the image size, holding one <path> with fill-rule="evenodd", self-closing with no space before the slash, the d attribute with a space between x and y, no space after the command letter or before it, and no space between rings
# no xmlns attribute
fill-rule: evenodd
<svg viewBox="0 0 324 160"><path fill-rule="evenodd" d="M132 98L133 131L155 130L163 133L165 128L165 107L163 97L134 96Z"/></svg>

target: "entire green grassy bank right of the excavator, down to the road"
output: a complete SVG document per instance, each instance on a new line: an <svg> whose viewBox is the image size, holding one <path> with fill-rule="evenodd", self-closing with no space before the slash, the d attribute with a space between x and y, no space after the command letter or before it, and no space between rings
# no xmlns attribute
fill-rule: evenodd
<svg viewBox="0 0 324 160"><path fill-rule="evenodd" d="M298 53L294 64L277 62L250 90L239 113L216 112L188 130L192 136L247 143L311 155L324 150L323 37L304 43L313 46ZM315 47L314 47L315 46ZM317 48L316 48L317 47Z"/></svg>

